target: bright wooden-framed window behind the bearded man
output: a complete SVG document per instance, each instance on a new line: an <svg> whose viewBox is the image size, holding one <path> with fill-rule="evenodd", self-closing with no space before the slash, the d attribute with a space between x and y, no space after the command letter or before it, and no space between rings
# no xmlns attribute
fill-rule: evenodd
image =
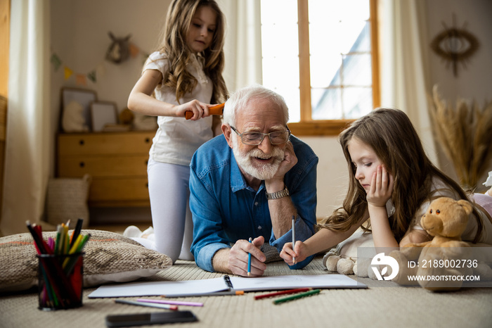
<svg viewBox="0 0 492 328"><path fill-rule="evenodd" d="M261 0L263 84L297 135L337 135L379 106L376 0Z"/></svg>

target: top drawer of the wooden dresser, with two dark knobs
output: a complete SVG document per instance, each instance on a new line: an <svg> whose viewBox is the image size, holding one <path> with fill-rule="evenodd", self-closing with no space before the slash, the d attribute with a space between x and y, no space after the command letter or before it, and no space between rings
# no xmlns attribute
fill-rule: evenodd
<svg viewBox="0 0 492 328"><path fill-rule="evenodd" d="M58 136L58 156L148 153L155 132L77 133Z"/></svg>

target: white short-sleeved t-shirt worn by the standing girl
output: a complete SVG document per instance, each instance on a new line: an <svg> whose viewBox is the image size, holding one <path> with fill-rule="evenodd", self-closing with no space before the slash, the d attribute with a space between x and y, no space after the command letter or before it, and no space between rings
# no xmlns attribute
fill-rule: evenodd
<svg viewBox="0 0 492 328"><path fill-rule="evenodd" d="M179 99L179 103L187 103L198 99L204 103L210 103L214 86L212 81L203 72L202 58L191 56L191 63L186 70L198 81L193 92ZM164 76L169 63L164 53L156 51L145 62L144 70L159 70ZM155 99L166 103L176 101L176 90L160 84L155 88ZM157 117L157 132L150 147L150 158L157 162L177 165L190 165L191 156L205 141L212 139L212 116L192 121L185 118L169 116Z"/></svg>

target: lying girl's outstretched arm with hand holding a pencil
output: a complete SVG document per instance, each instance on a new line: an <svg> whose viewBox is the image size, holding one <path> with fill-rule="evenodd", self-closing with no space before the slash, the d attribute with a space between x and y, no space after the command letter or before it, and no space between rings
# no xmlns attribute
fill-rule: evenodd
<svg viewBox="0 0 492 328"><path fill-rule="evenodd" d="M286 243L280 252L280 258L283 258L287 265L294 265L293 257L296 263L302 262L307 257L331 248L349 238L364 221L361 220L360 223L352 225L347 232L334 232L330 229L321 229L304 242L296 241L294 249L292 249L292 243Z"/></svg>

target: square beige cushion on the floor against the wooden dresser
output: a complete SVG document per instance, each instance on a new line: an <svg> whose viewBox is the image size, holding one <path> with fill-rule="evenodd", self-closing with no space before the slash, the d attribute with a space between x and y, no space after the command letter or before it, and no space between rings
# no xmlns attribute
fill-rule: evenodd
<svg viewBox="0 0 492 328"><path fill-rule="evenodd" d="M91 176L84 175L82 179L58 178L48 181L46 195L46 219L51 225L58 225L70 220L70 229L75 227L77 219L84 219L82 227L89 226L89 186Z"/></svg>

